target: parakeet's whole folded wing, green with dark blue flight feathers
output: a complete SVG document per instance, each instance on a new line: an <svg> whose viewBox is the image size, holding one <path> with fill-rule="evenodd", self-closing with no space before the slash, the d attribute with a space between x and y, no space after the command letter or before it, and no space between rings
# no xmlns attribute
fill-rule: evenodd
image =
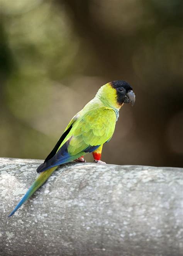
<svg viewBox="0 0 183 256"><path fill-rule="evenodd" d="M61 136L61 145L58 147L59 142L57 143L57 147L37 168L37 172L46 171L75 160L88 152L93 152L112 137L115 122L115 112L110 108L100 107L85 112L80 111L77 118L71 122L72 124Z"/></svg>

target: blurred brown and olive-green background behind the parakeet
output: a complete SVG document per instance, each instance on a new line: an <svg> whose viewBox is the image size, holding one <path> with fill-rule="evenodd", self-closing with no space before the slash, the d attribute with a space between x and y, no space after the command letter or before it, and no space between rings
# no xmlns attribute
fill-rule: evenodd
<svg viewBox="0 0 183 256"><path fill-rule="evenodd" d="M181 2L0 0L0 157L45 159L101 85L126 80L136 104L102 160L183 167Z"/></svg>

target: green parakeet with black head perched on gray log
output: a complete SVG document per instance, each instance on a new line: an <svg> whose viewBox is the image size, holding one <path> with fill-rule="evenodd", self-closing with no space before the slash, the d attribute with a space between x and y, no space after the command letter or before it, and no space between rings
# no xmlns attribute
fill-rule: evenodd
<svg viewBox="0 0 183 256"><path fill-rule="evenodd" d="M103 144L112 138L119 109L130 102L133 106L135 94L127 82L117 80L100 87L96 96L71 119L51 153L37 168L41 174L8 217L45 183L60 164L72 160L85 162L83 156L90 152L94 162L105 164L100 160Z"/></svg>

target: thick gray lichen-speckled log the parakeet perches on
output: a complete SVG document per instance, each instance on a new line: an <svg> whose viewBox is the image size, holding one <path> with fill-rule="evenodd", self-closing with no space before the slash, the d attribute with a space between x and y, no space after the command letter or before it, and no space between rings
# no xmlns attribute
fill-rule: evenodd
<svg viewBox="0 0 183 256"><path fill-rule="evenodd" d="M14 216L42 160L0 159L2 255L182 255L182 174L69 163Z"/></svg>

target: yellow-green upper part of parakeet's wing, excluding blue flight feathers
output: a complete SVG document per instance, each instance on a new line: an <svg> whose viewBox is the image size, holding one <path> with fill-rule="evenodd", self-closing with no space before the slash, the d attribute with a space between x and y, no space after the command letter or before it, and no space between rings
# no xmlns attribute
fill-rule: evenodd
<svg viewBox="0 0 183 256"><path fill-rule="evenodd" d="M59 148L69 140L69 155L77 155L90 146L102 145L112 137L115 123L115 112L110 108L94 108L81 113Z"/></svg>

